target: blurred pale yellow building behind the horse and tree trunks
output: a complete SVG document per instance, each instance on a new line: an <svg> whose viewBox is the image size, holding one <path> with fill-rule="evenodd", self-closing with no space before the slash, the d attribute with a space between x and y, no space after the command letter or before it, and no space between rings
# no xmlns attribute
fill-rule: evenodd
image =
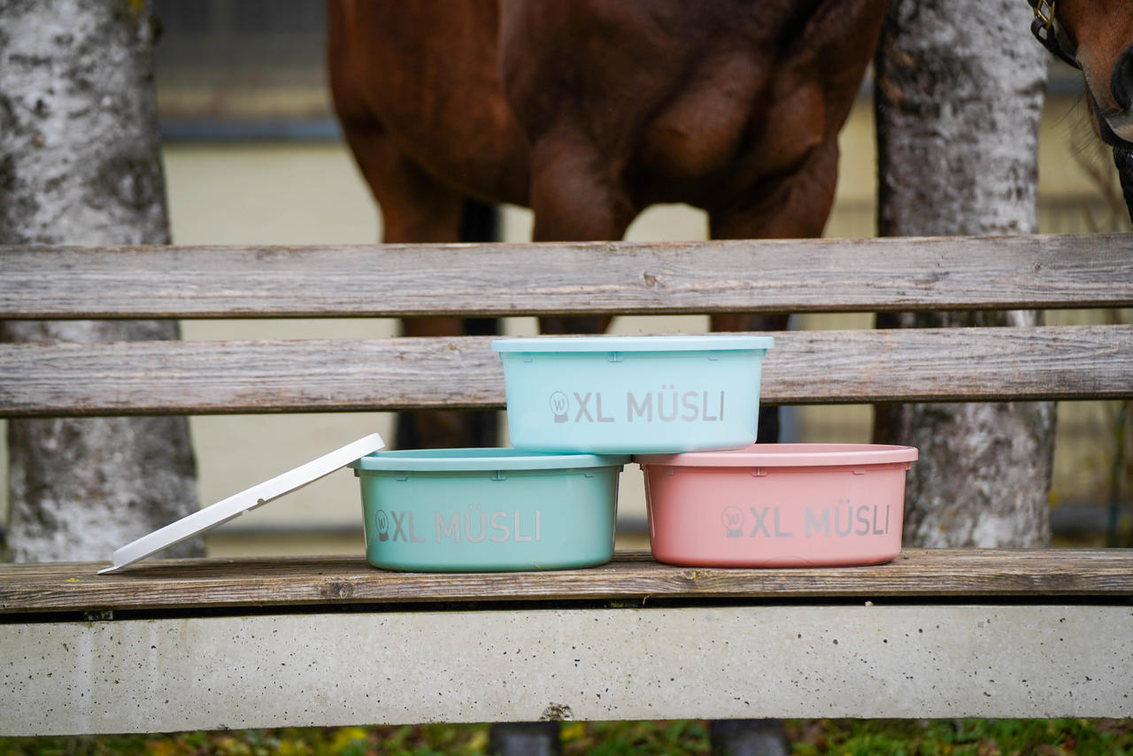
<svg viewBox="0 0 1133 756"><path fill-rule="evenodd" d="M156 83L173 243L182 245L370 244L381 216L358 176L331 110L324 70L322 0L156 0L162 34ZM1025 28L1020 44L1034 44ZM869 86L842 135L837 197L826 236L876 233L876 162ZM506 240L529 238L526 210L504 209ZM1039 229L1130 230L1108 148L1093 137L1077 74L1050 66L1040 135ZM631 227L638 240L700 239L702 213L649 210ZM1125 312L1050 312L1048 322L1105 322ZM801 329L869 328L869 314L807 315ZM704 317L622 317L623 333L702 332ZM506 331L534 333L533 318ZM381 338L395 324L351 321L189 321L186 339ZM1100 543L1110 507L1128 517L1130 453L1118 402L1062 402L1051 506L1056 533ZM202 504L276 475L377 430L387 414L195 417ZM869 440L869 407L792 408L789 440ZM0 436L2 438L2 436ZM505 439L502 440L505 442ZM638 475L623 477L621 545L644 546ZM3 487L6 491L6 486ZM1081 492L1063 501L1063 491ZM6 495L6 494L3 494ZM210 536L213 554L360 553L361 518L349 470L246 515ZM7 502L0 501L0 512ZM1127 529L1128 525L1125 525ZM109 557L109 554L108 554Z"/></svg>

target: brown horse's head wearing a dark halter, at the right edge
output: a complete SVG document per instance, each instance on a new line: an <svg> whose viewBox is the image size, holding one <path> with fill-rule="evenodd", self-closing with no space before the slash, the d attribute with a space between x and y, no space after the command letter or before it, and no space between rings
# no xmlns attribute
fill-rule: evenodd
<svg viewBox="0 0 1133 756"><path fill-rule="evenodd" d="M1081 69L1093 129L1114 148L1133 220L1133 0L1029 0L1031 31Z"/></svg>

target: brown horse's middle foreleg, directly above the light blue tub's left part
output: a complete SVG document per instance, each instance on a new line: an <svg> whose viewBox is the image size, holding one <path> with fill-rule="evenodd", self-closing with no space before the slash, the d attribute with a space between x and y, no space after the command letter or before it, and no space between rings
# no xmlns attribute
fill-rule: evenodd
<svg viewBox="0 0 1133 756"><path fill-rule="evenodd" d="M637 214L624 189L604 170L596 147L580 135L559 129L531 152L534 241L615 241ZM602 333L613 318L545 316L543 333Z"/></svg>

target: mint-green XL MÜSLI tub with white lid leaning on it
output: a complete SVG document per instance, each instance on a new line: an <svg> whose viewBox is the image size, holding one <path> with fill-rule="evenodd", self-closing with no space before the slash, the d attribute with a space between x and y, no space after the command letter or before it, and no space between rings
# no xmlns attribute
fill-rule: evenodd
<svg viewBox="0 0 1133 756"><path fill-rule="evenodd" d="M589 567L614 553L628 457L516 449L383 451L351 462L366 559L437 572Z"/></svg>

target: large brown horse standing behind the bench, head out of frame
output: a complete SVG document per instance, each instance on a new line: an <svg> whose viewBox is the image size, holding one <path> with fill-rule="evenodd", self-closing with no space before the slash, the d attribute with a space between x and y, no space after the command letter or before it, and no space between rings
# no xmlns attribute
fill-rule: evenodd
<svg viewBox="0 0 1133 756"><path fill-rule="evenodd" d="M469 197L531 207L536 241L620 239L659 202L706 210L714 238L813 237L885 7L332 0L331 87L385 241L457 241ZM717 331L783 324L712 321ZM540 322L545 333L605 325ZM404 332L459 324L417 318ZM449 424L417 442L467 439Z"/></svg>

